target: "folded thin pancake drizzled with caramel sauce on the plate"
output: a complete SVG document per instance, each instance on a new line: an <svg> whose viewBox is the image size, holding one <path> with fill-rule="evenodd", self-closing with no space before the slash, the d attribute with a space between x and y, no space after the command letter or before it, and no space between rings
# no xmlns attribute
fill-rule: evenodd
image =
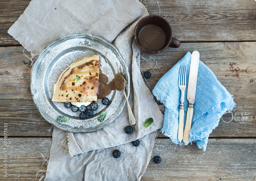
<svg viewBox="0 0 256 181"><path fill-rule="evenodd" d="M73 62L54 85L52 101L97 102L100 56L87 56ZM76 78L80 79L75 82Z"/></svg>

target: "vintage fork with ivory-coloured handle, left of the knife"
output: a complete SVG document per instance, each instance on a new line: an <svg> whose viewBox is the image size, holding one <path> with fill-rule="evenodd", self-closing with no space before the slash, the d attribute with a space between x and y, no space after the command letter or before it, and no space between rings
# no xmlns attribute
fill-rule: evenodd
<svg viewBox="0 0 256 181"><path fill-rule="evenodd" d="M185 70L186 68L186 70ZM184 92L186 89L186 72L187 66L181 66L179 71L179 89L181 90L180 105L179 105L179 128L178 128L178 140L183 139L183 124L184 124Z"/></svg>

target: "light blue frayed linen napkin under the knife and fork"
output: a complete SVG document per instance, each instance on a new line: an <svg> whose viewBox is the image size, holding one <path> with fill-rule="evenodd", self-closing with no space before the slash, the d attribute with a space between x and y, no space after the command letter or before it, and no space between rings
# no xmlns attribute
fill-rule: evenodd
<svg viewBox="0 0 256 181"><path fill-rule="evenodd" d="M158 81L153 94L165 105L164 125L162 132L170 137L176 144L184 144L178 141L178 118L181 91L178 86L180 66L187 66L187 87L185 89L184 101L184 127L186 123L188 100L187 88L189 79L189 69L191 53L178 61L164 76ZM206 150L209 134L215 129L220 117L236 106L232 95L220 84L214 73L201 61L199 61L196 97L194 103L194 113L190 130L189 142L195 141L198 148Z"/></svg>

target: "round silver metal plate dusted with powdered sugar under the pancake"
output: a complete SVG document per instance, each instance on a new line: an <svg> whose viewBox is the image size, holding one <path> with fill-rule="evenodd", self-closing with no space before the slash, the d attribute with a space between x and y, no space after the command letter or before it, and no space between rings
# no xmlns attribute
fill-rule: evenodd
<svg viewBox="0 0 256 181"><path fill-rule="evenodd" d="M98 99L99 108L94 115L86 120L80 120L80 112L72 112L63 103L52 102L54 84L60 74L74 61L84 56L100 55L100 69L111 81L121 69L127 76L125 92L129 97L130 76L128 67L119 51L100 37L79 33L62 37L50 43L43 49L31 71L30 89L33 100L41 115L51 124L62 130L71 132L94 132L111 123L123 110L125 97L122 91L112 90L107 96L110 104L104 106ZM107 112L103 122L98 121L102 111ZM67 122L57 121L58 116L70 118Z"/></svg>

